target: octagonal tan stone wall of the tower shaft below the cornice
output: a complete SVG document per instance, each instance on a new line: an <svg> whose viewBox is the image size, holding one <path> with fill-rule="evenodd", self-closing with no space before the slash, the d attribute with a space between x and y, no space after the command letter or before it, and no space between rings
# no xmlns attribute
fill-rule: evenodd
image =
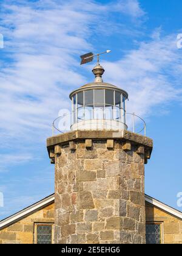
<svg viewBox="0 0 182 256"><path fill-rule="evenodd" d="M55 161L55 243L145 243L144 147L77 140Z"/></svg>

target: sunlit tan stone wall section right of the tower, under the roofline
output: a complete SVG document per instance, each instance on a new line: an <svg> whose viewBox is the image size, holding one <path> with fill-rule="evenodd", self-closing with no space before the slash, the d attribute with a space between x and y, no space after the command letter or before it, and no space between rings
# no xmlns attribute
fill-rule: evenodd
<svg viewBox="0 0 182 256"><path fill-rule="evenodd" d="M182 244L182 220L146 202L146 222L161 224L164 244Z"/></svg>

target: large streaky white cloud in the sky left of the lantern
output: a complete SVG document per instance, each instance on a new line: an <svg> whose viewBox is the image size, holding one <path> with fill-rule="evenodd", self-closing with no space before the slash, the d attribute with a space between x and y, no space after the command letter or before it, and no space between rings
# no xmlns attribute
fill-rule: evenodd
<svg viewBox="0 0 182 256"><path fill-rule="evenodd" d="M121 14L143 13L136 0L115 4ZM77 56L93 50L90 38L104 27L108 29L107 15L116 9L81 0L3 1L2 7L1 140L4 146L12 137L43 141L59 108L70 107L69 91L86 82L78 72Z"/></svg>

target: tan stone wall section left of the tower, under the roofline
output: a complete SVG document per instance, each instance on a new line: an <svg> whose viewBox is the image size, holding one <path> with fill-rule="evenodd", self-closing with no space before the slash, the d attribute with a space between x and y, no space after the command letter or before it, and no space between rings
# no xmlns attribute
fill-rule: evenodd
<svg viewBox="0 0 182 256"><path fill-rule="evenodd" d="M35 222L54 223L54 210L55 205L50 204L4 229L0 229L0 244L33 244Z"/></svg>

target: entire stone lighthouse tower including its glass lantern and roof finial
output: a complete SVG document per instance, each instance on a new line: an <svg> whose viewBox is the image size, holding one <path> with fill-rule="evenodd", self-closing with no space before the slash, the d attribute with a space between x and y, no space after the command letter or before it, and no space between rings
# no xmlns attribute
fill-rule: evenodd
<svg viewBox="0 0 182 256"><path fill-rule="evenodd" d="M47 139L55 164L55 243L145 243L144 164L152 140L127 130L126 91L95 82L70 94L70 132Z"/></svg>

